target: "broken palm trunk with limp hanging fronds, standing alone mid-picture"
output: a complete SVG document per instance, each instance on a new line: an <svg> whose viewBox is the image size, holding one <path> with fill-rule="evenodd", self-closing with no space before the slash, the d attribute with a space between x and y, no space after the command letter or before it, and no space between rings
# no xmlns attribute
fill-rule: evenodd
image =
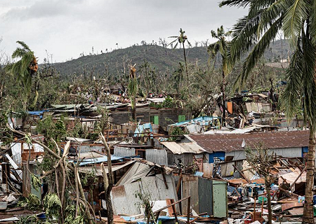
<svg viewBox="0 0 316 224"><path fill-rule="evenodd" d="M135 64L131 66L129 70L129 97L131 99L131 108L132 108L132 119L133 121L137 122L136 120L136 94L138 92L138 83L136 77L136 69Z"/></svg>

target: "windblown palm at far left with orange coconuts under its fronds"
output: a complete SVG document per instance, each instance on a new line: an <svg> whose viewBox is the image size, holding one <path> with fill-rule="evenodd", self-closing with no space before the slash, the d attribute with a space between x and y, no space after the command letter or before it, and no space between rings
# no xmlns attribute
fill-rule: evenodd
<svg viewBox="0 0 316 224"><path fill-rule="evenodd" d="M34 52L29 49L29 46L23 41L17 41L17 43L19 43L22 48L16 48L12 54L12 58L20 58L20 60L6 66L6 71L11 73L13 76L16 76L16 78L22 83L22 87L24 87L25 90L25 104L23 107L26 110L26 99L29 92L31 92L32 76L37 72L39 66L37 64L37 58L34 56ZM37 96L38 93L36 91L35 100L37 99Z"/></svg>

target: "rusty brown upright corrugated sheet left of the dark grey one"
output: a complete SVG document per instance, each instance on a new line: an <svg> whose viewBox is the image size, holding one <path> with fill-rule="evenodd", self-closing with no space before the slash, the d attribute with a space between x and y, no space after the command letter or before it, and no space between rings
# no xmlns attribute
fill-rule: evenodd
<svg viewBox="0 0 316 224"><path fill-rule="evenodd" d="M191 196L191 207L199 213L198 176L183 175L182 198ZM182 204L182 214L187 214L187 201Z"/></svg>

